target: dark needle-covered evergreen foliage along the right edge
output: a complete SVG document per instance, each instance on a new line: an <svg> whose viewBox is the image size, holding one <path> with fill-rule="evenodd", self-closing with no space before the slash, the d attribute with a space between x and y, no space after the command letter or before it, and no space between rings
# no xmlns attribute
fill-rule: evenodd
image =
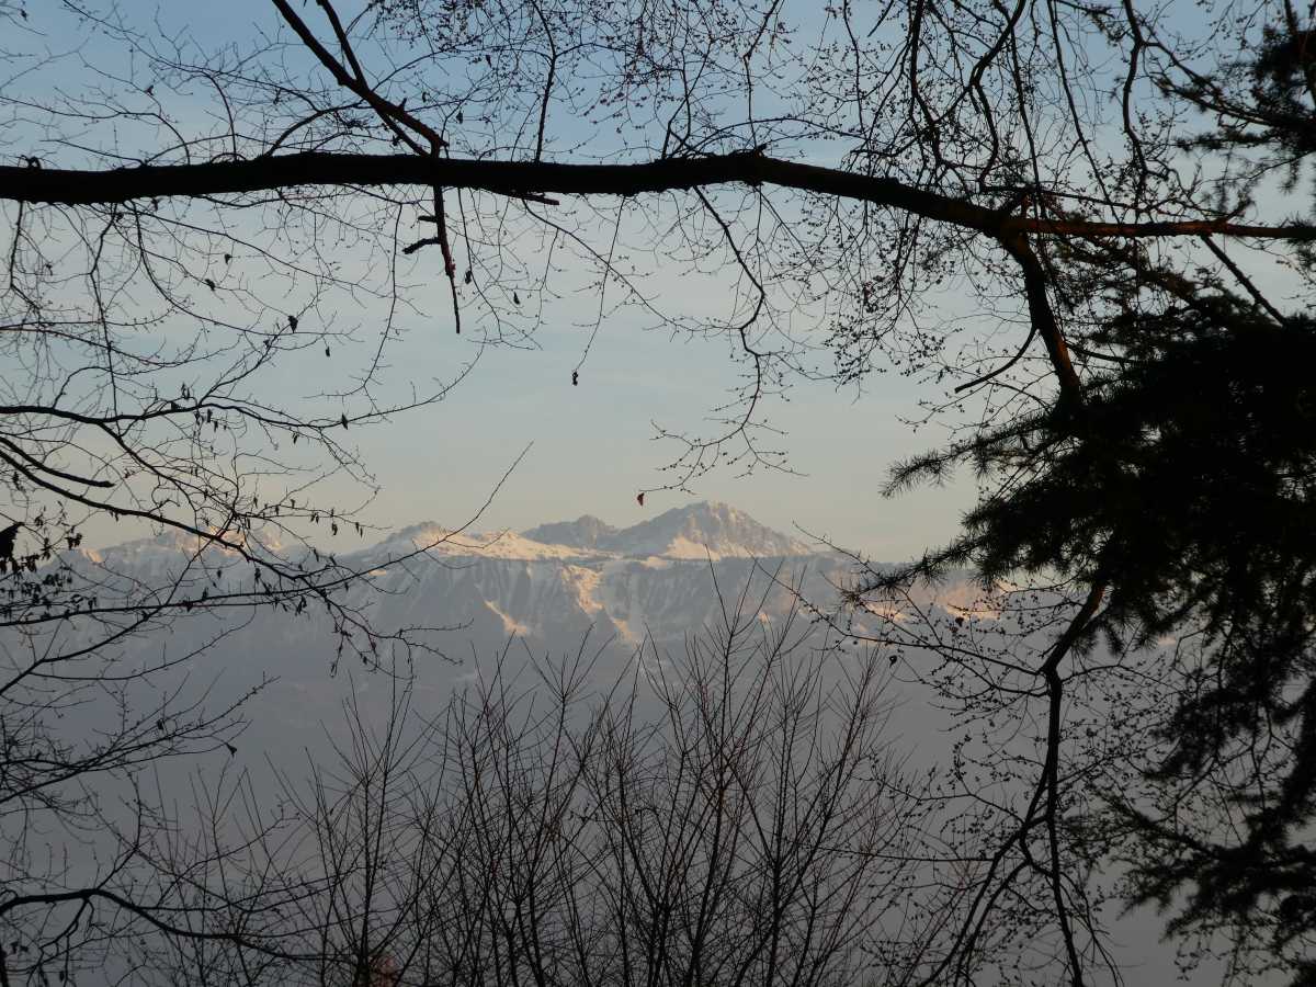
<svg viewBox="0 0 1316 987"><path fill-rule="evenodd" d="M1263 38L1178 89L1216 122L1183 146L1286 168L1291 190L1316 153L1316 32ZM1104 312L1075 333L1080 400L898 467L888 492L961 463L994 492L949 546L878 582L967 566L986 587L1100 587L1101 609L1073 625L1080 647L1175 641L1141 787L1108 786L1070 821L1130 866L1132 903L1174 912L1171 933L1224 932L1240 970L1316 984L1316 320L1246 279L1250 296L1107 250L1066 257Z"/></svg>

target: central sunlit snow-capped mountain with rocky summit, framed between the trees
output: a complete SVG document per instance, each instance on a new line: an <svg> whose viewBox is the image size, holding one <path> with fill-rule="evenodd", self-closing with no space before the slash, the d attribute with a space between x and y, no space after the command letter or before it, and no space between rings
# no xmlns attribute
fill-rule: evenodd
<svg viewBox="0 0 1316 987"><path fill-rule="evenodd" d="M595 637L634 647L646 637L680 640L715 616L716 587L817 579L840 565L830 553L761 525L725 504L695 504L617 529L586 515L512 532L453 533L438 525L404 529L368 553L399 557L424 549L426 565L386 570L380 616L418 622L422 615L463 624L467 640L559 650L592 628ZM817 570L817 571L815 571ZM784 611L790 595L769 594Z"/></svg>

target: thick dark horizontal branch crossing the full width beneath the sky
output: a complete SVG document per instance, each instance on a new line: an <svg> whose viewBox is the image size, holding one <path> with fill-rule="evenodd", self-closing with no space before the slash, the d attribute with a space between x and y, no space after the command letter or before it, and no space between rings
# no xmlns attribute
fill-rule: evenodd
<svg viewBox="0 0 1316 987"><path fill-rule="evenodd" d="M1011 216L966 199L915 188L891 178L801 164L758 153L663 158L640 164L570 164L537 161L472 161L416 154L305 153L251 161L145 164L70 170L0 167L0 200L92 205L170 196L203 197L274 192L303 186L415 184L499 195L632 196L719 184L776 186L874 203L929 220L1009 240L1019 234L1076 237L1200 237L1316 241L1316 225L1253 225L1228 220L1095 222Z"/></svg>

